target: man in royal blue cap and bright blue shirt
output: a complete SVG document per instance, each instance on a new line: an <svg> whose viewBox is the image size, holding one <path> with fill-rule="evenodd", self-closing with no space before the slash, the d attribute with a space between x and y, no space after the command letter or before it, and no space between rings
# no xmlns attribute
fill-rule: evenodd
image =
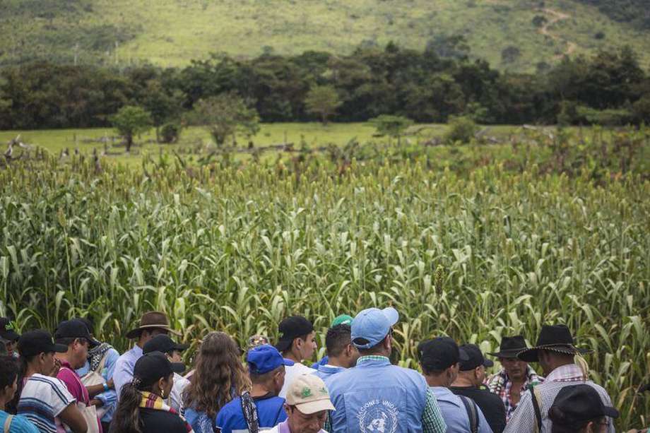
<svg viewBox="0 0 650 433"><path fill-rule="evenodd" d="M234 398L217 414L215 425L221 433L264 430L287 419L283 405L285 399L278 397L284 384L285 360L272 345L261 345L249 350L246 360L253 384L250 393Z"/></svg>

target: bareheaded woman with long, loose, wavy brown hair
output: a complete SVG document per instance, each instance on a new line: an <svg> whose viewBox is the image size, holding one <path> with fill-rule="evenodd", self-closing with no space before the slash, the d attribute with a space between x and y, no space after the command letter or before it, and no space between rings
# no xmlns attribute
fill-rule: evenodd
<svg viewBox="0 0 650 433"><path fill-rule="evenodd" d="M227 333L208 333L183 394L185 416L196 433L213 433L219 410L249 389L250 380L235 340Z"/></svg>

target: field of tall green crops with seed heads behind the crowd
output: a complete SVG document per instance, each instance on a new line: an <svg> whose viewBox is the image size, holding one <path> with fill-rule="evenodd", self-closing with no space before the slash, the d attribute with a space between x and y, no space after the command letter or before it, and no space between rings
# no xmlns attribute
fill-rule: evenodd
<svg viewBox="0 0 650 433"><path fill-rule="evenodd" d="M119 349L150 309L193 347L208 330L277 335L288 314L319 333L392 304L398 362L447 334L495 350L564 323L622 412L650 422L650 182L639 175L461 176L424 162L300 176L246 166L0 170L0 313L22 330L91 316ZM191 352L191 350L190 350Z"/></svg>

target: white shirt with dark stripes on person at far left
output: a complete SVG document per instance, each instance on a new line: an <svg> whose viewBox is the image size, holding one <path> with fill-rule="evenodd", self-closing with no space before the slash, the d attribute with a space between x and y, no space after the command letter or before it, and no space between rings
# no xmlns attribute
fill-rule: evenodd
<svg viewBox="0 0 650 433"><path fill-rule="evenodd" d="M42 433L65 433L70 430L58 416L76 400L59 379L33 374L25 380L18 401L18 415L26 417Z"/></svg>

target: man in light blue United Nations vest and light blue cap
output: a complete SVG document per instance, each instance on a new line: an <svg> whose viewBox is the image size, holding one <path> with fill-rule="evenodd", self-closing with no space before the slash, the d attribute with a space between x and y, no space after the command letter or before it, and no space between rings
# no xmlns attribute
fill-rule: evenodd
<svg viewBox="0 0 650 433"><path fill-rule="evenodd" d="M331 431L444 433L447 426L424 377L391 365L396 309L365 309L352 321L352 343L361 357L357 366L328 379Z"/></svg>

